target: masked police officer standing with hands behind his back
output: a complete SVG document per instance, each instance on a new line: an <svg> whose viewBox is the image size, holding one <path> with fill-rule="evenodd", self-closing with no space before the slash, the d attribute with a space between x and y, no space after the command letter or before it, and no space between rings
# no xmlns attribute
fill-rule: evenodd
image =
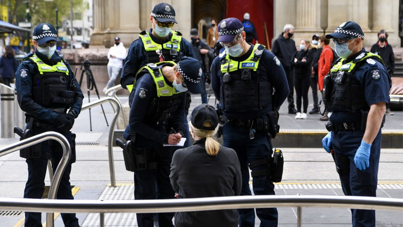
<svg viewBox="0 0 403 227"><path fill-rule="evenodd" d="M223 112L221 118L228 121L223 127L224 146L237 152L242 173L241 195L251 195L248 164L254 161L264 162L251 165L254 194L274 195L266 169L274 132L267 126L274 116L273 110L279 109L290 92L286 74L272 52L263 45L245 41L246 34L238 19L224 19L218 29L218 42L225 48L214 60L211 72L212 88ZM277 226L277 208L256 209L256 213L260 226ZM239 214L240 227L255 226L253 209L240 209Z"/></svg>

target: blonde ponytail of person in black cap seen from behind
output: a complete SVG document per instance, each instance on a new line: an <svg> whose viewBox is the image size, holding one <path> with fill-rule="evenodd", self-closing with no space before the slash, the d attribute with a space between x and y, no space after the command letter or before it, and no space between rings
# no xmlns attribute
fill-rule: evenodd
<svg viewBox="0 0 403 227"><path fill-rule="evenodd" d="M206 138L206 151L211 156L216 156L220 150L220 144L213 138L216 135L218 126L214 130L196 129L191 122L189 122L190 128L193 130L194 136L200 138ZM211 127L211 122L205 122L204 127Z"/></svg>

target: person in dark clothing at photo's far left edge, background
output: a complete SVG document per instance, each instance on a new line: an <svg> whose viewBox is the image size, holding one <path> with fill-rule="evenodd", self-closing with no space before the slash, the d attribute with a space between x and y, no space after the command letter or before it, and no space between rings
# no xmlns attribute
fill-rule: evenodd
<svg viewBox="0 0 403 227"><path fill-rule="evenodd" d="M3 83L10 87L10 82L17 71L17 61L14 58L14 49L11 46L6 46L6 51L0 58L0 75L2 75Z"/></svg>

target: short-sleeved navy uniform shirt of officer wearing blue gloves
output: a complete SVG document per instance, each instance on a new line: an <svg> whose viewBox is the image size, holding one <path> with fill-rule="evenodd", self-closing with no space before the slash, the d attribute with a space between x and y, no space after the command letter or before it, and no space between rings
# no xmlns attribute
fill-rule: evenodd
<svg viewBox="0 0 403 227"><path fill-rule="evenodd" d="M364 52L365 49L363 48L345 63L351 62ZM369 106L378 102L389 102L389 74L382 63L372 58L366 59L356 69L354 77L360 81L365 100ZM333 123L361 121L361 112L334 111L329 120Z"/></svg>

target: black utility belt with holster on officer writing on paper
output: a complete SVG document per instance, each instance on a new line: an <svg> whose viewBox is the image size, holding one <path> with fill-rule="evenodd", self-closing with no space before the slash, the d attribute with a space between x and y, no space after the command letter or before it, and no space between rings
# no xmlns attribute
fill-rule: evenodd
<svg viewBox="0 0 403 227"><path fill-rule="evenodd" d="M147 162L147 153L150 149L136 148L136 135L130 134L130 140L125 143L116 139L116 145L123 149L124 166L127 171L136 172L145 169L157 169L157 162Z"/></svg>

